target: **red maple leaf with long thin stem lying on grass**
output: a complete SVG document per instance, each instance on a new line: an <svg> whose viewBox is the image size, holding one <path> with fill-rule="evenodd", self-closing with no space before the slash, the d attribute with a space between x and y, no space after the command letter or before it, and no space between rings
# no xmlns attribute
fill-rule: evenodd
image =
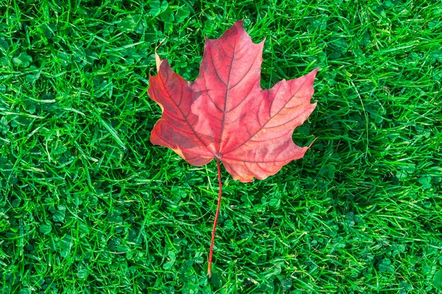
<svg viewBox="0 0 442 294"><path fill-rule="evenodd" d="M250 182L274 175L309 149L295 145L292 133L316 107L310 99L318 68L263 90L263 45L254 44L242 21L237 21L219 39L205 39L194 82L174 73L155 53L158 74L150 77L148 94L160 104L162 117L150 141L173 149L193 166L217 159L220 194L209 275L221 199L220 161L235 180Z"/></svg>

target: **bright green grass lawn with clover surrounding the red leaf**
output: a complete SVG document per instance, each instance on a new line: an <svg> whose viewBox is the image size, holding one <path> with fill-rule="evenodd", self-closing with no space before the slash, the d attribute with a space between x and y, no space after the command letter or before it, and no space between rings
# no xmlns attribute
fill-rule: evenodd
<svg viewBox="0 0 442 294"><path fill-rule="evenodd" d="M0 293L441 293L442 3L0 2ZM265 38L263 87L316 66L311 150L224 198L150 144L155 47Z"/></svg>

